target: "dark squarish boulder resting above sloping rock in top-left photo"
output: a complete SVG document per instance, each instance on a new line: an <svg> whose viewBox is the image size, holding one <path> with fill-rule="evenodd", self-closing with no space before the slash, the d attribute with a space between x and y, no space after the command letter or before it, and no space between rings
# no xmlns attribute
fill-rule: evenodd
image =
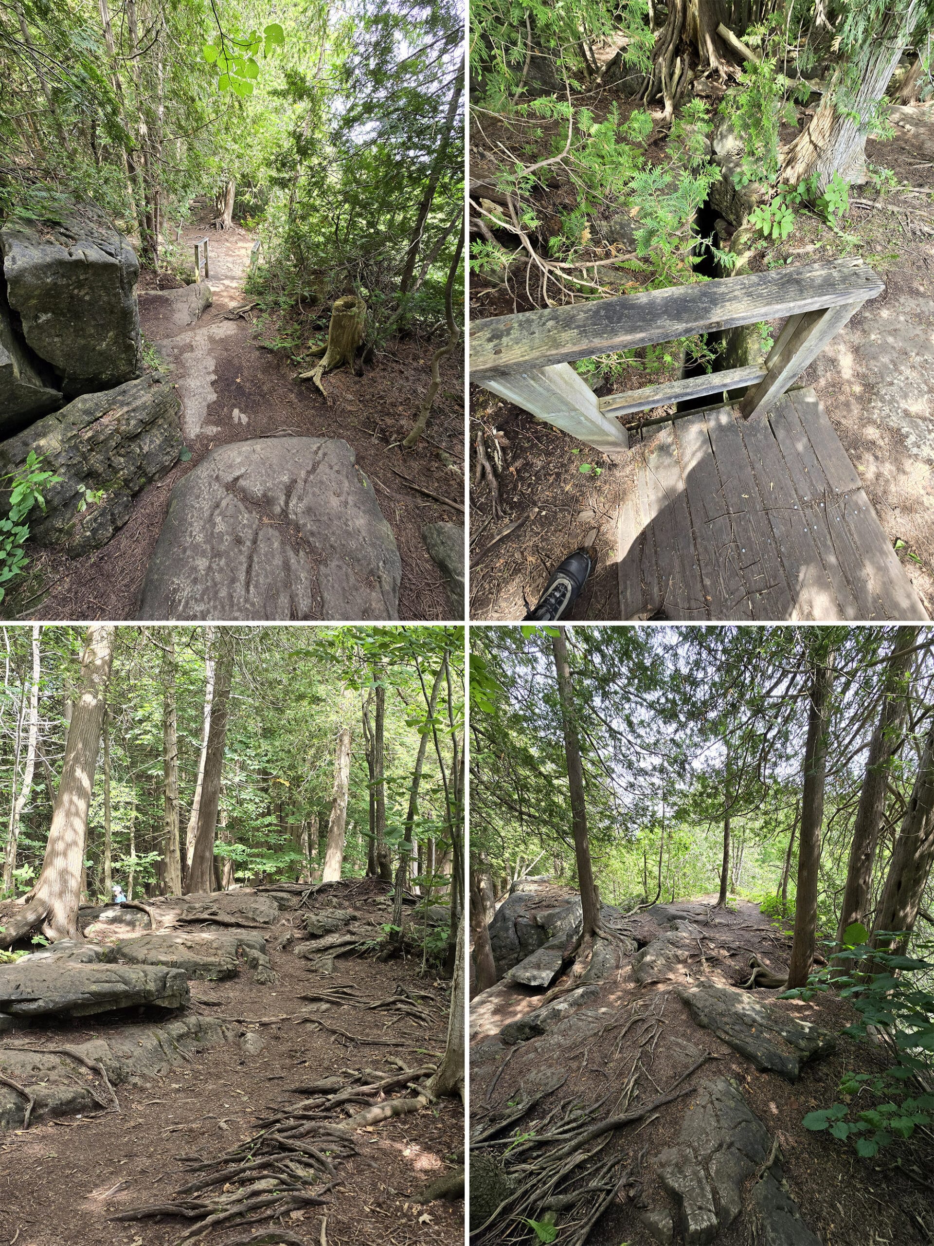
<svg viewBox="0 0 934 1246"><path fill-rule="evenodd" d="M139 264L98 209L76 206L55 223L11 221L0 245L22 335L68 397L138 375Z"/></svg>

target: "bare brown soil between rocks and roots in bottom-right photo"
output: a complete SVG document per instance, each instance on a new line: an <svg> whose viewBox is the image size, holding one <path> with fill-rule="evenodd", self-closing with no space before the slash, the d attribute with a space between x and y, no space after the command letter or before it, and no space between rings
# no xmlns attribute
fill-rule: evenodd
<svg viewBox="0 0 934 1246"><path fill-rule="evenodd" d="M765 963L783 972L787 968L790 939L782 931L770 925L758 907L745 901L736 905L736 912L714 908L715 896L704 896L690 903L666 906L685 910L684 916L696 922L704 931L706 967L700 966L700 954L689 964L692 978L706 977L724 986L738 986L748 977L748 956L755 952ZM635 921L621 923L640 941L658 937L659 928L649 913ZM827 1134L811 1133L802 1124L802 1116L817 1108L828 1108L837 1098L841 1074L854 1067L870 1070L883 1068L879 1057L852 1039L842 1037L837 1052L828 1059L804 1065L797 1083L786 1082L772 1073L760 1073L755 1067L727 1047L710 1030L700 1029L692 1022L685 1004L675 994L671 984L640 987L631 976L629 958L611 973L601 986L601 996L588 1008L609 1008L608 1027L592 1038L562 1043L543 1035L519 1043L507 1050L514 1052L503 1068L503 1058L484 1058L479 1050L501 1024L524 1015L542 1003L540 993L527 993L518 988L494 988L486 993L483 1014L492 1024L484 1024L472 1045L471 1067L471 1125L484 1119L491 1109L514 1100L523 1078L533 1070L560 1068L568 1078L562 1087L545 1098L534 1115L543 1115L559 1101L573 1100L593 1104L609 1095L606 1108L598 1114L614 1115L630 1072L641 1059L644 1075L636 1083L630 1108L650 1103L672 1085L685 1073L696 1057L679 1047L690 1043L715 1059L704 1064L687 1082L700 1087L715 1077L738 1080L748 1106L758 1115L766 1129L778 1140L785 1166L788 1192L798 1202L802 1217L812 1232L827 1246L867 1246L868 1242L889 1241L905 1246L920 1246L930 1241L934 1230L934 1196L919 1184L918 1177L897 1169L898 1161L930 1168L934 1155L927 1144L913 1148L889 1148L873 1161L861 1160L852 1148L836 1143ZM778 992L757 989L750 992L762 1002L776 1003ZM818 996L811 1003L781 1001L777 1004L802 1020L813 1022L824 1029L839 1032L853 1019L846 1001ZM639 1048L634 1043L643 1034L639 1027L629 1032L629 1040L620 1040L620 1024L633 1009L661 1017L658 1037L649 1034L649 1042ZM615 1025L615 1028L609 1028ZM496 1082L487 1105L487 1091L499 1068L502 1075ZM643 1194L651 1207L669 1206L670 1200L661 1190L653 1171L651 1156L665 1146L674 1145L685 1111L691 1109L691 1096L663 1106L641 1124L616 1130L604 1156L625 1154L630 1165L641 1160ZM624 1110L619 1108L619 1111ZM653 1119L654 1118L654 1119ZM523 1118L514 1126L519 1133L529 1128ZM915 1168L915 1171L918 1169ZM625 1195L610 1205L598 1221L588 1242L594 1246L653 1246L653 1239L639 1221L640 1209ZM560 1227L560 1221L559 1221ZM560 1240L560 1239L559 1239ZM681 1241L676 1234L676 1242ZM751 1229L743 1214L729 1230L716 1237L716 1246L748 1246Z"/></svg>

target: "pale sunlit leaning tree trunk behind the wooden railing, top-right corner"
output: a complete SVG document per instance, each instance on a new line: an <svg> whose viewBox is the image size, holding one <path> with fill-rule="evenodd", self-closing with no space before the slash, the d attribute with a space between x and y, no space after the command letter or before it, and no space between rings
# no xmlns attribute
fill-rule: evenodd
<svg viewBox="0 0 934 1246"><path fill-rule="evenodd" d="M806 128L798 135L782 158L782 182L797 186L812 173L818 191L824 191L839 173L844 182L866 181L866 137L879 101L909 41L920 0L907 7L893 5L877 29L869 27L866 41L847 65L837 69L829 87ZM847 95L846 108L837 112L836 92L844 74L858 82L856 96Z"/></svg>

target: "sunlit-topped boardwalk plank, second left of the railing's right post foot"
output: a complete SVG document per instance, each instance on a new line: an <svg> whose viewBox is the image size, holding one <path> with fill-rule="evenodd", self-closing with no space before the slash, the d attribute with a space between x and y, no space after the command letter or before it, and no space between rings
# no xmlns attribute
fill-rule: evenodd
<svg viewBox="0 0 934 1246"><path fill-rule="evenodd" d="M742 577L740 541L727 515L707 424L702 415L675 420L681 475L694 525L704 597L712 619L752 619Z"/></svg>

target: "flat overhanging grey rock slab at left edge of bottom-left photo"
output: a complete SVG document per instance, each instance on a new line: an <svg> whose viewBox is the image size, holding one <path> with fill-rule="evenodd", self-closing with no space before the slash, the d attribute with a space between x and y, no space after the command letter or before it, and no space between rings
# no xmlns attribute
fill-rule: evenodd
<svg viewBox="0 0 934 1246"><path fill-rule="evenodd" d="M187 1003L188 982L181 969L31 956L0 964L0 1012L11 1017L86 1017L139 1004L181 1008Z"/></svg>

